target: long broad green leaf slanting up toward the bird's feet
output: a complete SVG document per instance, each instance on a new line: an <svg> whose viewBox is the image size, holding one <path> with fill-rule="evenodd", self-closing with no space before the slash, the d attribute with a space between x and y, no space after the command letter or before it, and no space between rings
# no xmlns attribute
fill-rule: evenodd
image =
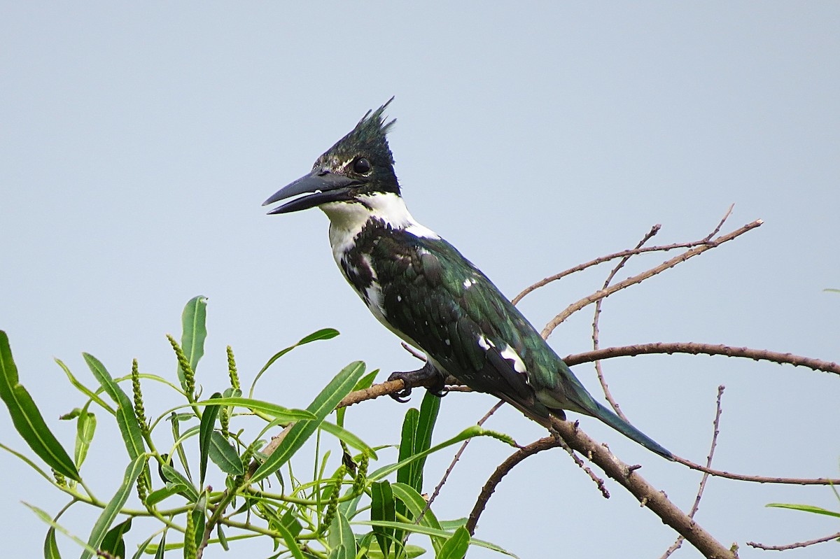
<svg viewBox="0 0 840 559"><path fill-rule="evenodd" d="M257 483L260 479L267 478L282 467L286 461L297 452L303 443L312 436L321 422L335 409L335 406L349 394L356 381L365 374L365 363L355 361L343 368L333 380L321 391L320 394L307 407L307 411L315 415L314 421L298 421L286 433L286 437L265 462L257 468L251 477L251 483Z"/></svg>

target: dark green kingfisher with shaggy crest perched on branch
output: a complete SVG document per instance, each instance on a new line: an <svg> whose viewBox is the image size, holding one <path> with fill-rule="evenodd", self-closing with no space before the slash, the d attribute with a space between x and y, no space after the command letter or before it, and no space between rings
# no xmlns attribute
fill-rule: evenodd
<svg viewBox="0 0 840 559"><path fill-rule="evenodd" d="M564 410L591 415L674 460L598 403L496 285L408 212L386 138L396 123L383 117L391 101L365 113L312 171L263 206L292 198L268 213L318 207L327 214L344 278L386 328L426 355L423 368L391 374L405 385L397 396L420 385L442 395L451 375L549 429L551 416L564 420Z"/></svg>

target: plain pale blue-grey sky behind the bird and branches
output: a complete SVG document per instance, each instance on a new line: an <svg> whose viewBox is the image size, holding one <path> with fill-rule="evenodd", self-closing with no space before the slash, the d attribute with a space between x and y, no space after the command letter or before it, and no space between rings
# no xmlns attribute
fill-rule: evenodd
<svg viewBox="0 0 840 559"><path fill-rule="evenodd" d="M55 418L82 400L53 358L89 384L82 351L115 375L132 358L174 375L165 334L180 332L193 295L209 298L199 369L208 389L224 385L226 345L249 378L322 327L342 334L277 363L260 397L306 405L355 359L407 370L412 358L335 268L326 217L267 217L260 207L396 96L391 149L412 213L508 295L632 247L655 223L656 243L702 238L735 203L727 229L764 226L606 300L601 344L714 342L838 360L840 295L822 291L840 287L838 29L835 2L0 3L0 328L68 448L74 427ZM665 258L632 261L627 273ZM552 285L522 310L542 327L608 271ZM582 311L550 342L560 355L585 351L590 322ZM725 384L717 468L840 475L836 375L663 356L605 369L627 415L677 454L705 460ZM601 398L591 367L575 373ZM436 440L493 403L450 394ZM396 441L405 410L379 400L352 410L348 425L371 444ZM104 419L84 470L103 495L125 465ZM522 443L543 436L514 410L488 426ZM697 473L594 420L581 426L690 507ZM0 432L24 448L5 410ZM476 441L438 516L468 515L508 453ZM3 552L39 556L46 526L19 501L55 512L64 498L8 454L0 470ZM609 500L564 452L543 452L501 483L476 535L523 558L660 556L674 534L607 485ZM762 556L747 541L837 530L828 518L764 508L779 501L840 508L829 488L712 479L697 520L738 542L742 557ZM94 518L66 524L87 538ZM699 555L684 546L678 556Z"/></svg>

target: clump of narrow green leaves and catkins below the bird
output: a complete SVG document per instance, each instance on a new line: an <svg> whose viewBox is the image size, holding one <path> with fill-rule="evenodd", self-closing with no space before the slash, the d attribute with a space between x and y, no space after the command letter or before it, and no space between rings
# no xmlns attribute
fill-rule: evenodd
<svg viewBox="0 0 840 559"><path fill-rule="evenodd" d="M227 550L235 541L254 537L271 540L273 557L296 559L405 559L426 553L423 546L408 544L411 535L428 536L435 556L446 559L460 559L470 545L507 553L471 539L464 520L439 522L422 493L425 460L431 453L473 436L493 436L504 442L510 442L509 438L472 426L433 446L439 400L427 395L420 410L407 410L402 440L377 447L398 447L397 461L369 473L370 461L379 457L361 436L344 428L348 410L339 409L336 420L327 421L349 392L372 384L376 372L365 374L364 363L349 363L302 409L254 398L257 379L279 358L339 332L323 329L275 353L255 374L248 397L239 388L239 372L228 347L230 386L200 400L202 389L197 389L196 378L207 337L206 316L206 298L193 298L182 315L181 342L169 337L178 365L174 382L141 374L136 363L132 374L114 378L102 362L84 353L98 384L92 388L56 360L82 399L78 407L61 416L64 421L76 421L72 458L20 384L8 337L0 332L0 397L18 434L53 475L24 454L5 445L0 448L24 460L70 499L55 515L28 505L50 526L45 557L61 556L56 531L71 536L71 541L81 547L82 559L128 554L162 558L173 553L192 559L201 556L207 546ZM184 403L155 417L150 411L155 402L144 402L144 383L171 389ZM131 396L121 384L130 384ZM107 502L92 494L83 467L95 442L97 423L103 417L113 418L119 427L121 441L108 441L109 450L122 446L128 458L123 462L122 481ZM269 440L270 434L276 436ZM306 479L297 475L294 464L312 463L306 455L312 448L307 441L313 440L315 474ZM329 447L338 447L341 452L333 457ZM126 454L112 455L114 467L120 468L120 457ZM224 478L223 488L206 485L211 475ZM133 494L136 503L129 504ZM59 522L76 504L101 509L87 538L70 534ZM126 538L133 520L139 517L156 519L160 526L151 534L139 536L143 541L132 549Z"/></svg>

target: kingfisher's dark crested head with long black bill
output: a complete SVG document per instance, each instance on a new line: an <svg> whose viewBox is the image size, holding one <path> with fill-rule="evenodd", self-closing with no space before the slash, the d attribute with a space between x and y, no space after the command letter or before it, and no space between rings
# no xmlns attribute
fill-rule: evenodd
<svg viewBox="0 0 840 559"><path fill-rule="evenodd" d="M328 149L312 165L312 171L276 191L263 206L292 196L304 195L278 206L269 213L287 213L323 206L332 202L364 203L378 193L400 195L394 174L394 158L386 133L396 122L382 118L388 100L375 111L368 111L344 138Z"/></svg>

